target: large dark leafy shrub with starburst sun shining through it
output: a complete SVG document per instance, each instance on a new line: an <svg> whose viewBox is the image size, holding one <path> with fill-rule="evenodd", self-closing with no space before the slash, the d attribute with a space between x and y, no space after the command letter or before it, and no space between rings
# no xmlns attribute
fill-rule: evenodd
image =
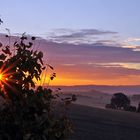
<svg viewBox="0 0 140 140"><path fill-rule="evenodd" d="M30 42L23 34L13 46L0 43L1 140L63 140L73 132L67 105L75 96L62 99L59 93L35 84L45 69L43 53L32 49L35 39L31 37ZM57 109L58 98L62 111Z"/></svg>

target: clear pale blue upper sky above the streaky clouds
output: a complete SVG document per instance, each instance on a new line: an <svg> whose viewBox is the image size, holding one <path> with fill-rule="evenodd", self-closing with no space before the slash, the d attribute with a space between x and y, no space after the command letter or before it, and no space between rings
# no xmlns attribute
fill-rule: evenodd
<svg viewBox="0 0 140 140"><path fill-rule="evenodd" d="M0 14L16 33L93 28L140 36L139 0L0 0Z"/></svg>

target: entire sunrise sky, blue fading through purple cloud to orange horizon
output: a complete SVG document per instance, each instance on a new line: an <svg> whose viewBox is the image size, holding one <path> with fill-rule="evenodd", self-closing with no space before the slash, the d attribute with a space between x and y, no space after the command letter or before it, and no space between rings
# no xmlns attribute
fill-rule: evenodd
<svg viewBox="0 0 140 140"><path fill-rule="evenodd" d="M40 37L52 85L139 85L140 0L1 0L0 18Z"/></svg>

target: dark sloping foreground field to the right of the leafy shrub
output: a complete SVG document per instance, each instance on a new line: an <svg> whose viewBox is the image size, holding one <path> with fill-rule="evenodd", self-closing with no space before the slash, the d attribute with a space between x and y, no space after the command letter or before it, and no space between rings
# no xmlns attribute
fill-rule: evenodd
<svg viewBox="0 0 140 140"><path fill-rule="evenodd" d="M140 140L140 113L72 105L70 140Z"/></svg>

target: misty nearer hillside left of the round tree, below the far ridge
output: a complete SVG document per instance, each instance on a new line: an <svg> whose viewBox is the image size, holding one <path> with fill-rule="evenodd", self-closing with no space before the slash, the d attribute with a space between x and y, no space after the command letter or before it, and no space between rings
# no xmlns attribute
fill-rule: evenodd
<svg viewBox="0 0 140 140"><path fill-rule="evenodd" d="M111 94L107 94L98 90L87 90L87 91L78 91L78 90L63 90L62 88L62 94L59 94L59 96L65 98L65 97L71 97L72 94L75 94L77 97L75 104L85 105L85 106L91 106L91 107L98 107L98 108L104 108L107 103L110 103L110 99L112 97Z"/></svg>

